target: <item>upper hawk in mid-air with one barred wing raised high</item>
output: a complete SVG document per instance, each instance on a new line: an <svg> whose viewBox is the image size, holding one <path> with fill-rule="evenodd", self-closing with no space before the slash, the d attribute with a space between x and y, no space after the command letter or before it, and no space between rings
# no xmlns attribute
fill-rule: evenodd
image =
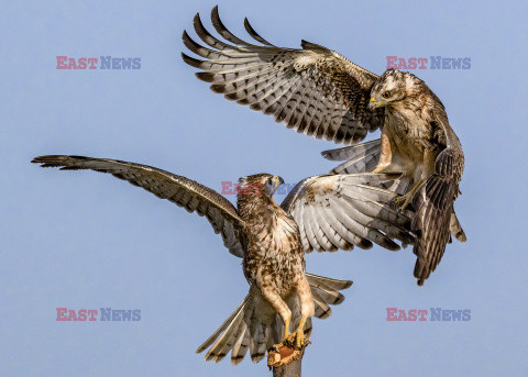
<svg viewBox="0 0 528 377"><path fill-rule="evenodd" d="M201 69L196 76L229 100L271 114L298 133L334 143L356 144L367 132L382 138L350 148L328 151L328 158L353 156L341 170L397 173L393 185L405 197L402 210L413 206L413 225L419 235L415 277L422 285L453 233L465 235L453 211L464 167L459 138L446 109L428 86L410 73L394 69L377 76L323 46L301 42L301 49L277 47L244 20L257 44L242 41L222 23L216 7L212 25L228 42L209 33L199 14L194 26L208 46L184 31L184 44L205 59L182 54Z"/></svg>

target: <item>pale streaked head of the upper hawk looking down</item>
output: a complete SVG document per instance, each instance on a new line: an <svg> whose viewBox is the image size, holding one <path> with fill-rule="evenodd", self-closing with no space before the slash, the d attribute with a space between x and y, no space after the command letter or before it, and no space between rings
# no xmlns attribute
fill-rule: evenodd
<svg viewBox="0 0 528 377"><path fill-rule="evenodd" d="M415 93L421 82L410 73L387 69L372 87L369 108L393 106Z"/></svg>

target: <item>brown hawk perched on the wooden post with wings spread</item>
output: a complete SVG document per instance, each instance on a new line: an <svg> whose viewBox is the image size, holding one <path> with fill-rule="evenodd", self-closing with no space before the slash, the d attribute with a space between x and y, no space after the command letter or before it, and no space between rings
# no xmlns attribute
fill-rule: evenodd
<svg viewBox="0 0 528 377"><path fill-rule="evenodd" d="M219 362L231 351L239 364L248 350L253 362L274 345L301 350L311 333L311 317L328 318L330 304L344 300L340 290L352 281L305 273L305 253L362 248L372 242L397 250L393 239L413 242L410 220L382 204L397 197L374 186L386 174L326 175L304 179L282 206L273 193L283 179L257 174L239 180L237 208L194 180L146 165L107 158L51 155L32 160L63 170L112 174L189 212L206 217L226 247L243 258L250 291L235 311L197 350ZM295 329L289 332L290 326ZM280 343L279 343L280 342Z"/></svg>

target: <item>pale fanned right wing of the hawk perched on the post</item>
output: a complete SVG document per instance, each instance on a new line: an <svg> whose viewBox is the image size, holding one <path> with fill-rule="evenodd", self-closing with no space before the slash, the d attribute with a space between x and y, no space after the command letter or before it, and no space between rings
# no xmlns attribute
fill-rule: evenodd
<svg viewBox="0 0 528 377"><path fill-rule="evenodd" d="M305 252L372 247L398 250L393 240L413 243L410 220L383 204L397 195L372 186L394 179L385 174L316 176L301 180L282 208L297 222Z"/></svg>

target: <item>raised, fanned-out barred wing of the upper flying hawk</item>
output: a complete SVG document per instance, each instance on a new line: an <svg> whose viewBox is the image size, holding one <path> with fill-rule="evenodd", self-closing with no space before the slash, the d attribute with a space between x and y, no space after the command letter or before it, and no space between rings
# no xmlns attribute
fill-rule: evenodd
<svg viewBox="0 0 528 377"><path fill-rule="evenodd" d="M211 35L199 14L194 26L205 44L184 32L187 48L206 58L182 54L184 60L202 69L197 77L229 100L273 114L277 122L306 135L336 143L356 143L383 124L383 109L367 108L370 90L377 76L326 47L302 41L302 49L276 47L262 38L248 20L244 26L262 45L240 40L211 12L217 32Z"/></svg>

